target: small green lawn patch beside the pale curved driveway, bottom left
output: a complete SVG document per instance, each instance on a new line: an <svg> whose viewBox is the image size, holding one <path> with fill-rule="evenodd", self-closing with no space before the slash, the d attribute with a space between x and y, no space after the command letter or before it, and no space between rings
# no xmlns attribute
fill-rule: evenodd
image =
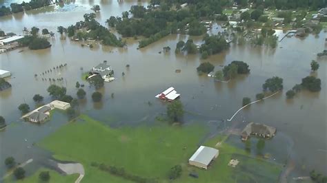
<svg viewBox="0 0 327 183"><path fill-rule="evenodd" d="M13 177L13 175L11 175L10 177L8 177L4 182L8 183L8 182L19 182L19 183L43 183L41 182L41 180L39 180L39 173L41 173L41 171L49 171L50 173L50 181L48 183L72 183L75 182L75 180L77 180L77 177L79 177L79 175L74 174L74 175L60 175L59 173L57 173L57 171L52 171L49 169L39 169L37 172L35 172L33 175L24 178L23 180L19 180L16 181Z"/></svg>

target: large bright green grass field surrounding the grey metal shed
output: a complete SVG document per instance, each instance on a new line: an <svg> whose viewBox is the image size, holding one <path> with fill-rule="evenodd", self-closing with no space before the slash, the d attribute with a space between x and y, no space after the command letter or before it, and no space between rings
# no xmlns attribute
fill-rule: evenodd
<svg viewBox="0 0 327 183"><path fill-rule="evenodd" d="M251 158L243 149L224 143L219 157L208 171L188 166L188 158L195 152L204 136L204 127L164 125L155 127L121 127L112 129L88 116L61 127L39 143L54 153L54 158L81 162L86 169L82 182L126 182L90 166L91 162L123 167L126 172L141 177L169 182L167 173L181 164L183 173L176 182L277 182L281 166L258 158ZM221 137L205 144L215 147ZM237 168L227 166L230 158L241 160ZM188 176L196 171L199 178Z"/></svg>

